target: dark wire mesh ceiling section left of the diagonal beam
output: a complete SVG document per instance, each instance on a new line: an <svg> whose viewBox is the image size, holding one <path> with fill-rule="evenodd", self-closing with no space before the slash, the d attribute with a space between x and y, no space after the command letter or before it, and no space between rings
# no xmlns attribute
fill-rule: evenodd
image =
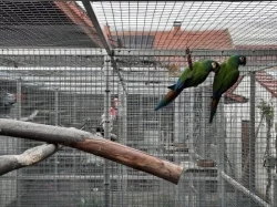
<svg viewBox="0 0 277 207"><path fill-rule="evenodd" d="M75 2L1 1L0 13L1 46L101 46Z"/></svg>

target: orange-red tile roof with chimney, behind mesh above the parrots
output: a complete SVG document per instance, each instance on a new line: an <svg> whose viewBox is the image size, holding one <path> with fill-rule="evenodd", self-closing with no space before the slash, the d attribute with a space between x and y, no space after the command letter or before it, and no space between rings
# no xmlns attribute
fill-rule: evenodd
<svg viewBox="0 0 277 207"><path fill-rule="evenodd" d="M107 33L107 27L105 28ZM110 37L142 37L153 35L154 49L167 49L167 50L184 50L187 46L189 49L234 49L232 38L228 30L211 30L211 31L181 31L178 27L173 28L172 31L156 31L156 32L142 32L142 31L124 31L114 32L109 31ZM114 42L113 42L114 43ZM141 45L137 45L140 48ZM185 56L185 53L184 53ZM171 68L175 64L181 72L181 68L187 66L187 60L184 56L156 56L156 61L162 65ZM192 54L193 62L202 60L199 56L195 58ZM222 60L222 59L220 59ZM217 60L215 60L217 61ZM172 75L177 75L176 71Z"/></svg>

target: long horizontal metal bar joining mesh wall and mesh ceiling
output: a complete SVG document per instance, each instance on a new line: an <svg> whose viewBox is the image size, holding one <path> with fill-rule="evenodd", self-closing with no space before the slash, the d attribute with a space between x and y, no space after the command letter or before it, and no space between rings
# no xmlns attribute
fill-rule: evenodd
<svg viewBox="0 0 277 207"><path fill-rule="evenodd" d="M113 49L115 56L185 56L185 50L156 50L156 49ZM194 56L228 56L242 54L248 56L277 56L276 49L268 50L191 50ZM105 49L80 48L0 48L0 55L106 55Z"/></svg>

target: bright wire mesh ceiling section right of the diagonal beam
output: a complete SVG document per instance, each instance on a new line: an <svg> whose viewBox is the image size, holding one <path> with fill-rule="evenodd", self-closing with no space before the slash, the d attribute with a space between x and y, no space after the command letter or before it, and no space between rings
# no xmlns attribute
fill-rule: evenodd
<svg viewBox="0 0 277 207"><path fill-rule="evenodd" d="M276 44L277 8L271 1L100 1L92 6L100 23L109 25L112 42L123 43L117 46L170 50Z"/></svg>

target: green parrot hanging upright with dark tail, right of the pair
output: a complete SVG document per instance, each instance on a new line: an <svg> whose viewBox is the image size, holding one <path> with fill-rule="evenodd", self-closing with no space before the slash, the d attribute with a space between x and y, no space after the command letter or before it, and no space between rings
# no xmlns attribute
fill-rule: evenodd
<svg viewBox="0 0 277 207"><path fill-rule="evenodd" d="M246 65L246 56L232 55L227 62L220 64L219 70L215 71L209 123L213 122L222 95L237 82L239 65Z"/></svg>

